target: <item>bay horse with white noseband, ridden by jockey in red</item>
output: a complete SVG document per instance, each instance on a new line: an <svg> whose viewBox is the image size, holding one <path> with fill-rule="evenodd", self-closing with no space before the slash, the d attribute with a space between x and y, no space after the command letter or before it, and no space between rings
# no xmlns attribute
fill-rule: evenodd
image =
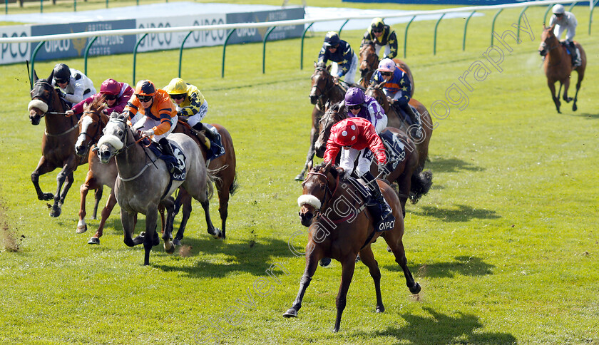
<svg viewBox="0 0 599 345"><path fill-rule="evenodd" d="M356 256L359 253L362 262L367 265L374 280L377 294L377 312L385 307L381 297L381 271L374 259L370 245L378 237L384 238L391 248L395 262L401 266L406 277L406 285L412 294L420 292L420 284L414 282L408 268L408 260L402 237L404 236L404 217L401 205L394 190L385 182L377 180L381 192L391 206L395 217L394 227L384 232L375 232L372 216L364 206L364 198L349 180L343 180L340 173L330 165L319 165L310 169L306 180L302 183L302 195L297 199L302 225L309 227L308 244L306 246L306 268L299 283L299 292L283 316L297 317L302 307L304 293L312 280L319 259L331 257L341 262L341 286L337 294L337 318L334 331L339 331L341 316L345 309L347 290L354 276ZM339 205L343 205L339 207ZM343 214L339 214L344 212ZM360 287L362 289L362 287Z"/></svg>

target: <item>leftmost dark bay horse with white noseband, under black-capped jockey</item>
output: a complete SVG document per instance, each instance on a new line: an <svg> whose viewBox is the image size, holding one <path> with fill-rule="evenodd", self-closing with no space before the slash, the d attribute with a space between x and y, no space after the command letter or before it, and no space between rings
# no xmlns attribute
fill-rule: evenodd
<svg viewBox="0 0 599 345"><path fill-rule="evenodd" d="M31 90L29 102L29 120L32 125L39 125L41 118L45 120L46 130L41 138L41 158L36 170L31 173L31 182L36 188L39 200L54 199L50 210L51 217L58 217L66 193L73 185L73 172L78 165L87 163L87 159L78 158L75 154L75 141L78 135L77 119L66 117L67 105L63 103L54 90L51 81L54 71L46 79L39 79L34 72L34 88ZM39 187L39 176L61 168L56 176L56 193L44 193Z"/></svg>

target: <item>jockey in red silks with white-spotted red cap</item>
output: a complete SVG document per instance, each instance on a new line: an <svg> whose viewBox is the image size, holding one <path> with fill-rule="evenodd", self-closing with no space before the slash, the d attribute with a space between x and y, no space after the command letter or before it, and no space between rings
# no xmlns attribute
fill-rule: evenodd
<svg viewBox="0 0 599 345"><path fill-rule="evenodd" d="M358 165L355 167L357 177L362 177L370 171L372 154L380 165L386 164L381 138L372 123L364 118L346 118L333 125L327 141L327 150L324 152L324 162L334 163L339 150L342 150L339 167L343 168L347 175L354 171L354 161L358 156Z"/></svg>

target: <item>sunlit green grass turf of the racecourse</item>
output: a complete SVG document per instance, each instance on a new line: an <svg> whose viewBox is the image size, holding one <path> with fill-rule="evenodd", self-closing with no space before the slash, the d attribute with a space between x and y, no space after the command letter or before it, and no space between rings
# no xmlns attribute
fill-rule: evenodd
<svg viewBox="0 0 599 345"><path fill-rule="evenodd" d="M141 247L123 244L118 206L100 246L86 244L96 220L88 217L90 231L76 235L78 185L86 166L76 171L61 217L49 217L46 202L36 200L29 175L39 160L43 125L32 126L26 115L24 64L1 66L1 234L4 247L12 240L19 251L0 252L0 339L6 344L195 344L201 339L599 344L599 46L587 34L588 8L577 7L577 39L589 64L578 111L563 104L559 115L537 53L543 13L544 8L528 9L534 40L523 34L512 53L504 51L501 73L487 64L492 72L486 80L470 79L473 91L466 92L464 110L451 106L448 118L436 119L427 163L434 185L417 205L406 207L404 244L421 293L409 293L401 269L378 241L373 250L386 311L373 312L372 279L358 264L339 334L332 333L338 262L317 269L297 319L282 317L304 269L304 259L288 246L295 232L301 234L296 247L306 240L297 217L301 187L292 179L307 151L309 76L323 34L306 39L303 70L298 39L268 43L264 75L261 44L227 47L224 79L222 47L185 51L182 77L208 99L206 120L232 133L240 189L230 200L226 242L206 234L203 212L194 202L185 250L168 255L161 245L155 247L149 267L142 265ZM458 78L472 63L486 62L482 53L490 43L493 13L485 14L471 19L466 51L461 51L464 19L442 21L436 56L434 22L410 26L405 60L414 72L414 98L428 107L445 100L446 90L461 85ZM510 29L518 14L503 11L496 31ZM399 33L404 28L394 26ZM354 48L360 36L362 31L343 33ZM130 54L94 57L88 74L97 85L106 78L130 82L132 61ZM140 54L137 77L165 85L176 76L177 61L178 51ZM39 75L47 76L56 62L36 63ZM83 69L81 59L64 62ZM41 177L44 191L56 189L57 173ZM89 215L91 197L87 205ZM211 210L217 223L215 199ZM142 216L138 231L143 224ZM280 283L265 273L275 263L289 272L274 270Z"/></svg>

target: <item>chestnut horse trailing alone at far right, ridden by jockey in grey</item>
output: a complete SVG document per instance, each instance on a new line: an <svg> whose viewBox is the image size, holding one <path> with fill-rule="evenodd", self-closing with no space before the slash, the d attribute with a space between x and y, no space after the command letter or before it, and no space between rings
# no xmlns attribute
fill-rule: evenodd
<svg viewBox="0 0 599 345"><path fill-rule="evenodd" d="M586 53L580 43L574 41L575 46L580 51L580 66L574 67L572 65L572 59L570 55L568 55L568 51L566 50L565 45L560 43L555 34L553 34L553 29L556 27L556 24L546 28L545 24L543 24L543 34L541 34L541 46L538 47L538 53L541 56L545 56L545 61L543 61L543 68L545 69L545 75L547 76L547 85L549 86L549 91L551 91L551 98L553 98L553 103L556 104L556 109L558 113L560 112L560 93L561 87L563 86L563 100L566 103L570 103L570 101L574 100L572 104L572 110L576 111L578 106L576 106L576 101L578 101L578 91L580 90L580 83L583 82L583 78L585 77L585 68L586 68ZM568 88L570 87L570 73L572 71L578 72L578 81L576 82L576 93L574 98L568 97ZM556 93L556 81L560 82L560 88L558 93Z"/></svg>

